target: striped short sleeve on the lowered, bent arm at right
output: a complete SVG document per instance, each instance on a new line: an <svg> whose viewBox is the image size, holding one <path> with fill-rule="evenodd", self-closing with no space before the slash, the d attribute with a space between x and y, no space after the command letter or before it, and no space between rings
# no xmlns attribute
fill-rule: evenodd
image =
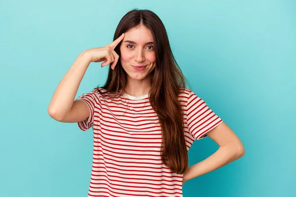
<svg viewBox="0 0 296 197"><path fill-rule="evenodd" d="M188 131L197 140L207 137L206 133L220 125L223 120L212 111L207 103L192 91L186 105Z"/></svg>

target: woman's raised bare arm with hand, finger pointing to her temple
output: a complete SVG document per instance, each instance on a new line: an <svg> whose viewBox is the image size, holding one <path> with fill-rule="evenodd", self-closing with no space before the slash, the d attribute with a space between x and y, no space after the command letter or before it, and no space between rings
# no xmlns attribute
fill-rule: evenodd
<svg viewBox="0 0 296 197"><path fill-rule="evenodd" d="M48 106L48 114L60 122L80 122L86 120L89 115L89 108L82 100L74 100L78 87L91 62L102 62L101 66L111 68L116 66L119 56L114 48L123 40L124 33L107 46L88 49L83 51L75 60L74 64L67 71L58 84Z"/></svg>

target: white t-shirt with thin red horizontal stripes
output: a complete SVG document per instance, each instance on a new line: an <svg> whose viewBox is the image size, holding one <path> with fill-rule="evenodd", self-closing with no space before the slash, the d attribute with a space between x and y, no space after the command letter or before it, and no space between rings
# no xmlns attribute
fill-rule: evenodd
<svg viewBox="0 0 296 197"><path fill-rule="evenodd" d="M88 197L182 197L183 174L172 172L161 161L161 128L149 95L124 93L112 100L114 94L103 95L96 89L76 99L90 110L88 119L78 122L78 127L94 129ZM222 119L188 88L179 100L188 151L194 140L206 137Z"/></svg>

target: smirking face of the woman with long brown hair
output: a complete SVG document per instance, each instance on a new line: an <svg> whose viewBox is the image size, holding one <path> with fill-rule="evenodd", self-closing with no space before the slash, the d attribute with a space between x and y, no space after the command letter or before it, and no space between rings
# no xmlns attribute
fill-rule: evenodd
<svg viewBox="0 0 296 197"><path fill-rule="evenodd" d="M125 32L120 53L121 66L129 79L143 80L156 66L153 36L151 31L143 25Z"/></svg>

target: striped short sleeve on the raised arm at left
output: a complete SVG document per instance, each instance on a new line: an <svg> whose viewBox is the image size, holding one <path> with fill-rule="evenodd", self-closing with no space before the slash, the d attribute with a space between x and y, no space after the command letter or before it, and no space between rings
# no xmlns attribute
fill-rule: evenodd
<svg viewBox="0 0 296 197"><path fill-rule="evenodd" d="M82 94L79 96L76 100L82 100L84 101L89 109L89 117L81 122L77 122L78 127L82 131L87 131L89 128L91 128L94 125L94 114L95 114L95 106L97 105L96 103L98 102L98 96L97 96L97 91L96 88L89 92Z"/></svg>

